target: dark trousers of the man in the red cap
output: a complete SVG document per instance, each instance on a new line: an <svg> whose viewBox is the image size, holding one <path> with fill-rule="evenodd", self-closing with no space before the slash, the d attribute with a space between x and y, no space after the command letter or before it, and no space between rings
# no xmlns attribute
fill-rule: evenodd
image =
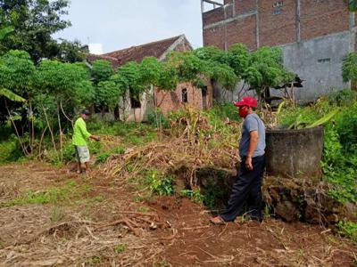
<svg viewBox="0 0 357 267"><path fill-rule="evenodd" d="M226 222L234 221L238 215L244 214L245 208L252 219L262 221L262 176L265 156L252 158L252 165L253 170L247 170L245 157L242 158L227 209L220 214Z"/></svg>

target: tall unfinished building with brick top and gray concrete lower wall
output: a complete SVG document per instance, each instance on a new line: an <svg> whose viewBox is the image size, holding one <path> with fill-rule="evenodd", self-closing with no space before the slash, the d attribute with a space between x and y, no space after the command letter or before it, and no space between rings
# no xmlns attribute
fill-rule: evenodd
<svg viewBox="0 0 357 267"><path fill-rule="evenodd" d="M219 3L218 3L219 2ZM355 51L356 20L345 0L202 0L203 44L250 50L280 46L284 64L304 80L300 101L312 101L343 82L341 67Z"/></svg>

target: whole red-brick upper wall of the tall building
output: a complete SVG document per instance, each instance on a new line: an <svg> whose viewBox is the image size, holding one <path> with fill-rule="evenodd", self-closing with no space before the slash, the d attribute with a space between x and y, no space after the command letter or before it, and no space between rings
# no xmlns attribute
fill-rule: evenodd
<svg viewBox="0 0 357 267"><path fill-rule="evenodd" d="M226 0L225 4L233 0ZM234 0L236 16L255 11L255 0ZM301 1L301 40L348 30L349 12L344 0L300 0ZM260 45L289 44L297 41L297 0L259 0ZM278 4L282 4L277 7ZM219 20L220 18L220 20ZM224 19L223 8L203 13L203 45L225 47L225 28L221 23L208 28L211 21ZM227 18L227 14L226 14ZM227 24L228 46L245 43L250 49L256 48L255 15L247 15L241 20Z"/></svg>

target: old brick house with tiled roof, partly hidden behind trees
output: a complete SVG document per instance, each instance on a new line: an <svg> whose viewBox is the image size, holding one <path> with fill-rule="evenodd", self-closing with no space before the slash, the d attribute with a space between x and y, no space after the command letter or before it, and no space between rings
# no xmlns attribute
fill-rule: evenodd
<svg viewBox="0 0 357 267"><path fill-rule="evenodd" d="M186 36L182 35L149 44L132 46L112 53L90 54L87 61L89 63L95 60L110 61L112 68L117 69L129 61L140 62L145 57L156 57L159 61L164 61L166 55L171 51L184 52L190 50L192 50L191 44L187 41ZM190 83L181 83L177 86L176 91L168 92L153 88L152 92L149 95L144 94L140 101L130 98L130 101L124 107L127 120L145 121L149 110L154 108L154 102L162 109L163 114L181 109L184 104L193 105L199 109L210 108L212 106L212 85L209 82L206 85L205 88L198 89Z"/></svg>

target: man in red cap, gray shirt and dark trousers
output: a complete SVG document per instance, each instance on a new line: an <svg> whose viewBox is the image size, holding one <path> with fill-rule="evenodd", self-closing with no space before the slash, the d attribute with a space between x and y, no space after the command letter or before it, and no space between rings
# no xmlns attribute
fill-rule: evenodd
<svg viewBox="0 0 357 267"><path fill-rule="evenodd" d="M231 222L246 212L262 222L262 176L265 166L265 126L255 113L257 101L250 96L234 102L239 116L245 119L239 143L240 163L237 181L233 185L226 211L210 219L213 224Z"/></svg>

